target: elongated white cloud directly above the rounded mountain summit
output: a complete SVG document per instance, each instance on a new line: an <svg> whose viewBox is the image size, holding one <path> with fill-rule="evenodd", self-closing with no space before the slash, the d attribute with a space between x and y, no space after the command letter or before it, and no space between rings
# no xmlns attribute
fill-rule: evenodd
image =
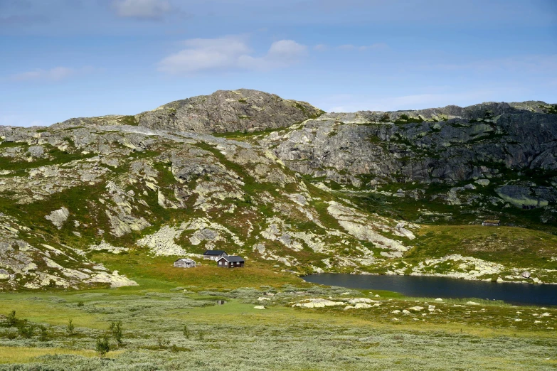
<svg viewBox="0 0 557 371"><path fill-rule="evenodd" d="M237 36L224 38L195 38L184 43L180 50L159 62L159 71L173 75L206 71L272 70L285 68L302 60L307 47L292 40L272 43L261 57Z"/></svg>

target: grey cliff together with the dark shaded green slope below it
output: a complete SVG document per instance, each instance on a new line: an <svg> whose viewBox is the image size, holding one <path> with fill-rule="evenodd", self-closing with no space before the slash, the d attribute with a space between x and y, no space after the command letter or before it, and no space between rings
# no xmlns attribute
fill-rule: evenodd
<svg viewBox="0 0 557 371"><path fill-rule="evenodd" d="M468 205L485 215L510 205L541 208L537 222L557 221L557 114L543 102L329 113L260 143L333 188Z"/></svg>

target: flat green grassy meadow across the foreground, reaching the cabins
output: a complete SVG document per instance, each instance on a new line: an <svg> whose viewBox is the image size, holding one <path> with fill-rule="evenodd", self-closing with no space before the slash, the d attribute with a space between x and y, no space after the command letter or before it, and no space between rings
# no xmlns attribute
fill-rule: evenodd
<svg viewBox="0 0 557 371"><path fill-rule="evenodd" d="M137 258L95 257L139 286L0 294L0 370L557 367L556 308L319 286L263 264L174 269L165 257L127 261ZM292 308L304 299L361 297L378 305ZM414 306L423 310L393 313ZM110 330L119 321L120 340ZM110 351L100 357L105 336Z"/></svg>

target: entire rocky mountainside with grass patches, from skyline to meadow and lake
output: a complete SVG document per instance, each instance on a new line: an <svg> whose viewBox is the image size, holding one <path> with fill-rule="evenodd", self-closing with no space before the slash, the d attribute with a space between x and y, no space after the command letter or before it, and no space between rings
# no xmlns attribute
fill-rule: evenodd
<svg viewBox="0 0 557 371"><path fill-rule="evenodd" d="M325 113L218 91L0 127L0 289L134 285L117 267L206 249L293 274L557 282L556 204L556 104Z"/></svg>

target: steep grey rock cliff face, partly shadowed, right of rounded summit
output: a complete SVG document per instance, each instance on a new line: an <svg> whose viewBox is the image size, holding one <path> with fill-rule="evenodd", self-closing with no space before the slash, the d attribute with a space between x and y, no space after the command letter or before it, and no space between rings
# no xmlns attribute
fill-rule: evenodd
<svg viewBox="0 0 557 371"><path fill-rule="evenodd" d="M266 141L297 171L358 185L358 176L455 184L501 167L557 170L557 114L535 105L325 114Z"/></svg>

